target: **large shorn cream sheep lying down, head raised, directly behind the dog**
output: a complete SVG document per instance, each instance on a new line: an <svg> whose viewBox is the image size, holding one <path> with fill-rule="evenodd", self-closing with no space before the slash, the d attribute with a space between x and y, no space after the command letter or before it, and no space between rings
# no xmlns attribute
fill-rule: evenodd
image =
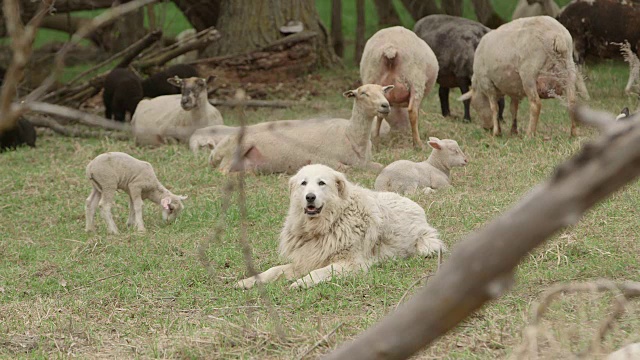
<svg viewBox="0 0 640 360"><path fill-rule="evenodd" d="M327 119L290 129L246 134L241 164L234 162L236 136L226 137L211 152L209 163L228 173L241 168L258 173L295 173L304 165L323 163L333 168L356 166L379 171L371 161L371 127L376 116L389 113L385 94L393 85L362 85L344 93L353 98L351 119ZM265 125L266 126L266 125Z"/></svg>

